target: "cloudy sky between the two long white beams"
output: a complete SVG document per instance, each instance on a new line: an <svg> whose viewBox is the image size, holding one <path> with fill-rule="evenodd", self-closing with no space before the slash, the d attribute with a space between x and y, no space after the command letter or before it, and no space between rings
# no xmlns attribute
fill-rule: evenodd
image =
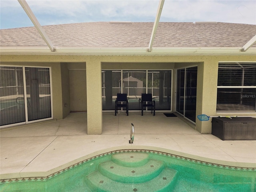
<svg viewBox="0 0 256 192"><path fill-rule="evenodd" d="M154 19L157 12L156 0L72 0L72 1L28 1L34 14L44 22L42 15L54 15L60 20L60 16L66 20L73 17L78 22L128 20L145 21Z"/></svg>

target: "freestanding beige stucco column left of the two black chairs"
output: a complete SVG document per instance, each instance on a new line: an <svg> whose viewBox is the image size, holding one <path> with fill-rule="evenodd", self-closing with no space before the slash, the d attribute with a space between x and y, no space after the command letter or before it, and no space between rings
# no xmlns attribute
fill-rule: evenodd
<svg viewBox="0 0 256 192"><path fill-rule="evenodd" d="M86 60L87 134L102 134L101 62Z"/></svg>

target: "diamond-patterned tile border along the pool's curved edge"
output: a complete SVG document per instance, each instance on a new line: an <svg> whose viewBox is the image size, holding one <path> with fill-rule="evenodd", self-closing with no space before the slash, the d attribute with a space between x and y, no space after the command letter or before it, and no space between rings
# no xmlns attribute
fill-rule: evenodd
<svg viewBox="0 0 256 192"><path fill-rule="evenodd" d="M234 166L226 166L226 165L220 165L220 164L214 164L214 163L208 163L208 162L204 162L204 161L200 161L200 160L195 160L195 159L191 159L191 158L186 158L183 156L178 156L178 155L174 155L174 154L169 154L169 153L165 153L165 152L159 152L159 151L155 151L155 150L115 150L115 151L111 151L111 152L106 152L104 154L100 154L100 155L96 155L94 157L88 158L86 160L83 160L81 162L78 162L76 164L73 164L71 166L68 166L67 168L64 168L58 172L55 172L53 174L50 174L46 177L26 177L26 178L12 178L12 179L2 179L0 180L0 184L6 184L6 183L16 183L16 182L38 182L38 181L46 181L49 180L51 178L54 178L68 170L71 170L77 166L80 166L86 162L90 162L94 159L103 157L103 156L108 156L108 155L112 155L112 154L117 154L117 153L124 153L124 152L144 152L144 153L150 153L150 154L158 154L158 155L162 155L162 156L169 156L172 158L176 158L176 159L180 159L180 160L185 160L185 161L190 161L190 162L194 162L197 164L202 164L202 165L206 165L206 166L212 166L212 167L218 167L218 168L224 168L224 169L230 169L230 170L241 170L241 171L255 171L256 172L256 168L243 168L243 167L234 167Z"/></svg>

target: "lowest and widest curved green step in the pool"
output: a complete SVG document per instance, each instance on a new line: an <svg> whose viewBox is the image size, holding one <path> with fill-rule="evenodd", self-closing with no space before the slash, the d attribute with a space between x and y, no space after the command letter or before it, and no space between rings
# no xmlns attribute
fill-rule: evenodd
<svg viewBox="0 0 256 192"><path fill-rule="evenodd" d="M123 183L111 180L99 171L86 176L86 182L97 192L165 192L171 191L177 180L177 171L164 168L162 172L152 180L141 183Z"/></svg>

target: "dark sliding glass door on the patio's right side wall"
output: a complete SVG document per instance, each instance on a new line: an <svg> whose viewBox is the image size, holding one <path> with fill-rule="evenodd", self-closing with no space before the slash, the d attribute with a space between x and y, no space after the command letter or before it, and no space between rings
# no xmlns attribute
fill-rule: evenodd
<svg viewBox="0 0 256 192"><path fill-rule="evenodd" d="M176 111L196 122L197 67L177 70Z"/></svg>

